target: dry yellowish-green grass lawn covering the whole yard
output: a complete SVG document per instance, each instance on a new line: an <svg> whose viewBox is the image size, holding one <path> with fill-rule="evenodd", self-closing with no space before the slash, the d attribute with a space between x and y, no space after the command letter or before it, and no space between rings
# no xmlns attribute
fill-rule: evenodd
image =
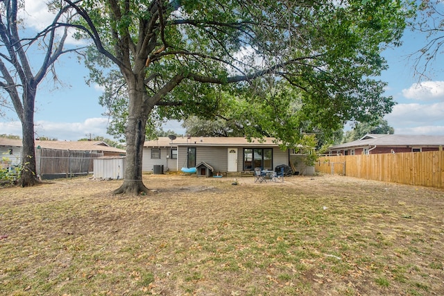
<svg viewBox="0 0 444 296"><path fill-rule="evenodd" d="M0 189L0 295L444 295L444 191L146 175Z"/></svg>

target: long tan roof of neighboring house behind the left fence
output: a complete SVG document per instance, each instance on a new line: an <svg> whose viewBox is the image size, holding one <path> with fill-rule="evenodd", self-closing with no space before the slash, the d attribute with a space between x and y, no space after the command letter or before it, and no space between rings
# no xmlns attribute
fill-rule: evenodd
<svg viewBox="0 0 444 296"><path fill-rule="evenodd" d="M22 147L22 140L7 139L0 137L0 146ZM126 153L125 150L109 146L104 141L40 141L35 140L35 147L53 150L73 151L106 151L115 153Z"/></svg>

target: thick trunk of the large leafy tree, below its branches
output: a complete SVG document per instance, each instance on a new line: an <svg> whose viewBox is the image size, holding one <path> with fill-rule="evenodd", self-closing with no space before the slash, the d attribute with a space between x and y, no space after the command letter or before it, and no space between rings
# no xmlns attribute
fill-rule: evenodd
<svg viewBox="0 0 444 296"><path fill-rule="evenodd" d="M130 195L147 194L149 189L146 188L142 181L145 127L149 114L144 104L144 84L143 79L139 83L134 80L127 80L127 82L130 103L128 106L128 123L126 128L126 165L125 171L123 172L123 184L113 193ZM133 83L135 84L134 87L132 85ZM137 85L140 87L137 88Z"/></svg>

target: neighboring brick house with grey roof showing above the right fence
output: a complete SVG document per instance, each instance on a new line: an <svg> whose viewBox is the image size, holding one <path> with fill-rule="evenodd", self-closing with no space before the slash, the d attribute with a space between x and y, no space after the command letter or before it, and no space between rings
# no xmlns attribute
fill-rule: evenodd
<svg viewBox="0 0 444 296"><path fill-rule="evenodd" d="M443 136L366 134L357 141L328 148L330 155L360 155L436 151L444 146Z"/></svg>

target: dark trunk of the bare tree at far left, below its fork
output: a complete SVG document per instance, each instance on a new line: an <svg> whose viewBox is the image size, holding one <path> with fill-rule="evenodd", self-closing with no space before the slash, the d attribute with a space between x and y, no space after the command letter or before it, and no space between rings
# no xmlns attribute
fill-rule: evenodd
<svg viewBox="0 0 444 296"><path fill-rule="evenodd" d="M37 183L34 142L34 101L35 92L28 92L32 98L24 98L22 120L22 172L19 184L22 187L34 186ZM24 94L26 96L26 94Z"/></svg>

